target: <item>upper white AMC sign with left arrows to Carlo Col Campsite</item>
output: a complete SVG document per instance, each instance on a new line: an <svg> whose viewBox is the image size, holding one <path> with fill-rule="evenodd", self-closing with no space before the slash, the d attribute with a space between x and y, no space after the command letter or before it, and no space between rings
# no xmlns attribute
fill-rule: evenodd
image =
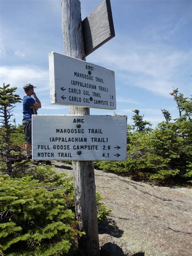
<svg viewBox="0 0 192 256"><path fill-rule="evenodd" d="M51 104L116 109L112 70L51 52L49 77Z"/></svg>

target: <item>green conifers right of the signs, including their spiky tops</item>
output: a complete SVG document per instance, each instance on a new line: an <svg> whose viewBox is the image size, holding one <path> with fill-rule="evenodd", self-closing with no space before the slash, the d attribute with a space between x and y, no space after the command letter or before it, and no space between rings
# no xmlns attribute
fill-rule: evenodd
<svg viewBox="0 0 192 256"><path fill-rule="evenodd" d="M177 119L162 109L165 121L152 130L135 109L134 125L128 125L127 160L95 162L95 166L161 185L192 183L192 99L178 88L170 94L179 111Z"/></svg>

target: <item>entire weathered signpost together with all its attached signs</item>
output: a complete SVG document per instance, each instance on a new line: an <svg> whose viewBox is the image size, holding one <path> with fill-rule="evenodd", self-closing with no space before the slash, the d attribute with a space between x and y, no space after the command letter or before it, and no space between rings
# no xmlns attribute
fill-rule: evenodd
<svg viewBox="0 0 192 256"><path fill-rule="evenodd" d="M87 18L85 18L83 21L83 26L81 21L81 6L79 0L62 0L62 32L65 54L75 59L85 61L86 55L90 54L92 51L115 36L110 0L103 0L98 8L96 8L89 16L87 16ZM58 53L55 53L55 56L56 55L59 56ZM53 63L54 61L52 60L52 68L60 68ZM76 97L76 100L71 100L71 102L67 103L68 105L71 105L69 106L70 115L75 115L75 117L73 116L72 119L71 117L66 117L68 118L68 124L64 123L65 117L59 117L60 119L58 119L58 116L51 116L51 121L49 116L42 117L34 115L32 119L32 148L34 159L46 159L46 153L48 159L51 159L51 157L52 159L57 159L59 155L59 159L62 158L62 160L66 160L67 158L75 160L73 161L75 212L76 218L79 222L79 229L85 232L85 235L78 240L79 252L82 256L100 255L94 165L90 160L109 160L112 158L113 160L114 158L115 160L123 160L126 158L126 117L105 116L104 121L104 117L100 117L99 119L99 117L95 118L89 116L89 107L100 106L101 108L106 109L116 108L114 75L109 75L109 79L111 79L111 81L110 83L107 83L106 76L102 74L102 71L100 71L102 76L99 76L98 74L95 75L97 69L99 69L99 67L96 65L94 66L94 70L87 70L87 73L85 73L85 70L79 71L79 69L73 69L73 77L70 77L67 83L65 83L65 77L67 77L68 74L62 76L59 71L60 75L57 77L56 73L53 75L52 70L52 103L65 105L66 102L70 101L70 97ZM89 74L89 71L91 74ZM64 72L64 69L62 69L62 72ZM80 75L79 77L78 75L76 76L74 72L79 74L81 73L81 77ZM99 80L94 81L93 83L93 85L96 85L96 89L92 88L91 90L88 90L88 88L83 89L83 87L82 89L76 88L78 87L78 81L79 83L85 83L84 81L81 81L82 74L84 75L84 78L85 75L98 77ZM113 77L113 79L110 77ZM62 79L62 81L58 82L59 80L56 81L56 79ZM71 80L75 81L75 84L71 84ZM102 85L102 82L105 85ZM104 90L100 90L99 86L103 87ZM83 91L85 91L85 95ZM77 104L78 93L82 96L81 102L83 101L83 98L85 98L85 102L80 105ZM89 93L90 95L88 95ZM98 102L94 102L94 100L97 98L107 101L108 105L102 105ZM86 102L86 99L90 100L91 103ZM81 120L81 122L75 123L74 120L76 119ZM107 120L109 121L108 128ZM47 125L45 124L46 122ZM111 127L109 127L110 124ZM81 127L78 128L77 125L80 125ZM39 126L42 126L42 134ZM78 134L78 136L74 133L72 134L72 130L74 132L74 129L80 129L82 134ZM86 136L84 136L82 131L86 131ZM39 137L40 134L41 138ZM76 138L77 141L72 141L73 138ZM81 141L81 138L84 138L84 141ZM115 140L116 138L118 138L118 143ZM58 140L64 140L64 142L62 141L61 143L61 141ZM95 146L95 150L87 149L87 147L85 148L85 146L88 145L89 148L91 148L91 146ZM98 147L96 147L96 145ZM77 146L79 146L80 149L77 148Z"/></svg>

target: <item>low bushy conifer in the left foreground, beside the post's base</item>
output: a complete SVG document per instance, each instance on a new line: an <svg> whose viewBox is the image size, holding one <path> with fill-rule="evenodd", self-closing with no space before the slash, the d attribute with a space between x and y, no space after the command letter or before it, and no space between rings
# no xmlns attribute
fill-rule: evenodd
<svg viewBox="0 0 192 256"><path fill-rule="evenodd" d="M51 166L36 167L33 174L41 182L0 176L0 253L67 255L83 235L75 221L73 183Z"/></svg>

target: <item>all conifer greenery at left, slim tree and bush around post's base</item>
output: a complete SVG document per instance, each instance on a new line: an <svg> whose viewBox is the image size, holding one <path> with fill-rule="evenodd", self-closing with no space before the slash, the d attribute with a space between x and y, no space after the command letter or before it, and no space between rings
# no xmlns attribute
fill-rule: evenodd
<svg viewBox="0 0 192 256"><path fill-rule="evenodd" d="M11 124L12 110L20 98L17 88L0 87L0 255L58 256L75 249L85 233L75 220L72 178L52 166L15 162L24 141L23 127ZM109 210L96 196L98 220Z"/></svg>

